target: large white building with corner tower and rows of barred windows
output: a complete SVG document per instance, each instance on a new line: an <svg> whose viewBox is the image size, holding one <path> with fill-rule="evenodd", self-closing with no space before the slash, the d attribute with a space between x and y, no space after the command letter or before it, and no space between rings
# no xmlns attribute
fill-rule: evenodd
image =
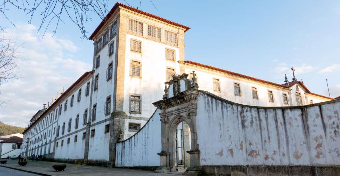
<svg viewBox="0 0 340 176"><path fill-rule="evenodd" d="M115 166L116 142L148 122L156 110L152 103L163 96L164 83L169 84L173 74L186 73L189 79L195 75L200 90L244 105L302 106L334 100L310 92L295 76L276 84L186 61L184 34L189 29L116 3L89 38L94 41L92 70L33 116L23 132L22 152ZM182 135L190 136L186 123L181 126Z"/></svg>

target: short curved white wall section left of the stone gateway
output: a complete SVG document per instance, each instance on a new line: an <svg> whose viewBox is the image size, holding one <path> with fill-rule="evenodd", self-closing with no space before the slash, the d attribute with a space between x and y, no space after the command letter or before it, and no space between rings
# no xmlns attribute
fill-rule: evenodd
<svg viewBox="0 0 340 176"><path fill-rule="evenodd" d="M162 149L160 110L130 138L116 144L116 166L159 166L157 153Z"/></svg>

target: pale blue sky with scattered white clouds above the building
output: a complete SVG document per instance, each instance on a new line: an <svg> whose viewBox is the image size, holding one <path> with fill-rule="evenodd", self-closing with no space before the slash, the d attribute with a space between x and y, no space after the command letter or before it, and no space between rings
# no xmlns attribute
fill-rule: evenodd
<svg viewBox="0 0 340 176"><path fill-rule="evenodd" d="M125 0L133 7L191 27L185 33L185 60L283 84L285 74L303 79L313 93L340 96L340 1L201 1ZM116 1L109 1L111 9ZM119 2L119 0L118 0ZM121 0L125 3L124 0ZM38 31L41 16L7 6L0 15L1 37L21 45L20 79L3 86L0 121L24 127L33 114L92 68L93 41L81 39L64 14ZM85 23L88 37L101 19ZM45 24L46 25L46 24ZM44 30L46 33L44 35ZM44 37L43 37L44 35Z"/></svg>

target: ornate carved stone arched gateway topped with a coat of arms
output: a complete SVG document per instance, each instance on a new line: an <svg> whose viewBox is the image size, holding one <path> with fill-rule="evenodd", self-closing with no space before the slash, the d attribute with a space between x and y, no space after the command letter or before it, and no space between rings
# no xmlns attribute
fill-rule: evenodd
<svg viewBox="0 0 340 176"><path fill-rule="evenodd" d="M185 174L202 173L196 131L198 84L194 76L192 81L187 76L173 75L169 87L164 90L163 100L153 103L161 110L159 116L162 123L162 150L157 153L160 156L160 167L155 172L175 171L176 131L177 126L184 122L190 128L191 137L191 149L187 151L190 154L190 167Z"/></svg>

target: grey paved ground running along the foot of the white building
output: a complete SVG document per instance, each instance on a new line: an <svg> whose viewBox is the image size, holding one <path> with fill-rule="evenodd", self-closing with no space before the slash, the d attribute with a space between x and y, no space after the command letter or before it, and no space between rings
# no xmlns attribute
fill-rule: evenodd
<svg viewBox="0 0 340 176"><path fill-rule="evenodd" d="M0 164L2 167L22 170L26 172L36 173L39 175L46 176L104 176L104 175L119 175L119 176L172 176L182 175L181 172L169 172L169 173L154 173L152 171L133 170L133 169L121 169L121 168L105 168L97 166L84 166L78 164L67 164L65 171L56 172L53 169L53 165L58 162L47 162L47 161L28 161L26 166L19 166L17 159L7 159L6 164ZM10 174L11 175L11 174ZM0 176L2 172L0 171ZM12 175L11 175L12 176ZM20 175L22 176L22 175Z"/></svg>

